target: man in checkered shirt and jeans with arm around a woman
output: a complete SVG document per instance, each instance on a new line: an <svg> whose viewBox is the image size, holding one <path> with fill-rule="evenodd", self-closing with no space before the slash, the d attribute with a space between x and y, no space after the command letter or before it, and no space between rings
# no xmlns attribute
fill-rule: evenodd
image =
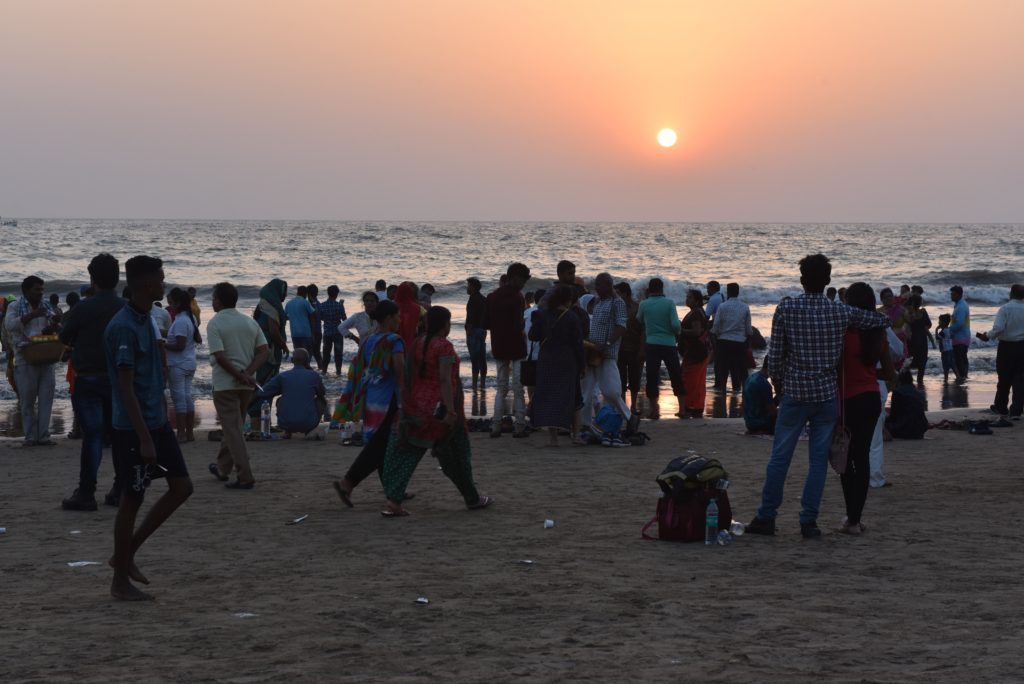
<svg viewBox="0 0 1024 684"><path fill-rule="evenodd" d="M836 369L848 328L886 328L889 317L831 302L824 296L831 263L823 254L800 261L804 294L785 299L775 309L768 349L768 369L779 397L775 440L765 473L758 515L746 525L754 535L774 535L782 487L804 426L810 424L810 463L800 499L800 531L821 536L818 508L825 487L828 447L838 415Z"/></svg>

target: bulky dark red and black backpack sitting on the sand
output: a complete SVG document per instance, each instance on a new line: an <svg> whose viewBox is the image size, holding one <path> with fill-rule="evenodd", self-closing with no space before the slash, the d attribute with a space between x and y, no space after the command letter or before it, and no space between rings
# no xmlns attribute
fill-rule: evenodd
<svg viewBox="0 0 1024 684"><path fill-rule="evenodd" d="M728 529L732 524L732 507L729 505L728 475L715 459L691 456L673 461L657 476L662 498L657 500L657 513L643 526L641 536L646 540L666 542L702 542L705 514L708 503L718 504L718 528ZM657 537L647 533L657 523Z"/></svg>

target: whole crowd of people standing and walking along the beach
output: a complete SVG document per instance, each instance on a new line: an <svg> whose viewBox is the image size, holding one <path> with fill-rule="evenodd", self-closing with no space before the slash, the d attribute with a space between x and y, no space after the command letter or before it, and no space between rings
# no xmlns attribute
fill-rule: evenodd
<svg viewBox="0 0 1024 684"><path fill-rule="evenodd" d="M548 443L559 436L573 442L608 432L600 414L617 417L629 436L641 418L639 392L646 376L648 420L660 416L663 368L676 395L680 419L703 415L709 367L714 385L742 392L744 419L753 433L772 434L762 503L748 525L752 533L772 535L782 501L782 485L801 435L808 433L810 466L801 499L804 537L820 535L818 508L825 481L829 444L839 421L850 434L849 458L841 475L847 517L842 531L858 535L871 486L886 484L883 473L884 407L902 366L927 364L931 318L923 291L905 287L899 295L878 293L864 283L828 288L831 265L823 255L801 261L804 294L784 298L774 312L771 344L754 373L760 334L739 285L724 293L717 282L686 293L679 318L665 284L653 277L634 296L627 283L608 273L592 281L593 292L561 261L551 287L524 292L530 270L508 266L501 283L484 295L479 280L466 282L466 340L471 359L471 390L481 391L487 376L486 343L497 371L497 396L490 436L503 435L511 417L513 437L542 430ZM22 297L4 300L3 339L7 377L15 388L26 446L53 444L49 413L55 385L55 359L27 356L40 336L58 335L71 350L69 377L77 428L82 438L78 487L63 501L71 510L96 510L95 491L103 447L112 445L115 481L104 503L119 506L115 527L112 593L122 599L148 596L136 584L147 581L134 563L138 547L191 494L179 444L195 439L191 383L202 311L195 290L174 288L168 306L163 263L136 256L125 264L127 288L120 294L118 260L99 254L89 265L90 285L81 296L45 299L45 283L26 277ZM460 357L450 337L452 312L434 306L430 286L379 281L361 297L362 311L348 316L339 290L331 286L318 300L315 285L299 287L289 298L288 284L271 280L260 290L251 314L238 310L238 289L213 288L214 315L206 344L213 371L213 401L221 441L210 473L229 489L252 489L247 420L260 418L265 402L276 402L278 424L287 436L313 434L327 411L322 375L331 361L342 371L343 341L357 342L345 389L332 422L361 426L362 448L334 483L346 506L358 484L377 472L387 498L382 514L409 515L409 482L424 454L431 451L470 510L494 499L474 482L471 441L463 409ZM956 380L968 375L970 310L963 289L950 290L953 310L938 318L933 345ZM991 410L1020 417L1024 403L1024 287L1015 285L991 331L978 337L998 340L998 387ZM291 339L291 345L288 340ZM966 341L966 342L965 342ZM948 354L948 355L947 355ZM293 368L282 372L291 356ZM948 362L948 367L946 366ZM168 420L169 389L176 434ZM913 392L912 386L909 391ZM1010 394L1013 393L1013 402ZM511 402L509 402L511 394ZM894 411L896 402L894 401ZM247 419L248 417L248 419ZM618 431L604 443L625 444ZM231 476L233 475L233 479ZM168 491L136 524L136 514L153 479L164 477Z"/></svg>

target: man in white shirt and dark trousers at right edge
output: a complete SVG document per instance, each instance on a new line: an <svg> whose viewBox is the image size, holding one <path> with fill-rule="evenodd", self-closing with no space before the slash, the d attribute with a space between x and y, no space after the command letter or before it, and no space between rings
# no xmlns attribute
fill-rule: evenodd
<svg viewBox="0 0 1024 684"><path fill-rule="evenodd" d="M1024 285L1010 288L1010 301L995 313L992 330L978 333L978 338L999 341L995 350L995 402L990 409L1000 416L1020 418L1024 409Z"/></svg>

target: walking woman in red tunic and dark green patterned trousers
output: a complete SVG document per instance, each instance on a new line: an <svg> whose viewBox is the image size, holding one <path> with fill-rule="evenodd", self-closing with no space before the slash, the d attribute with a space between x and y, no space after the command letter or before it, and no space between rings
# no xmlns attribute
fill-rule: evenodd
<svg viewBox="0 0 1024 684"><path fill-rule="evenodd" d="M451 332L452 312L443 306L431 306L426 333L408 349L401 419L397 432L388 440L381 478L388 499L387 509L381 512L385 517L409 515L401 502L427 450L433 450L441 470L470 510L494 503L490 497L481 497L473 484L459 354L447 339Z"/></svg>

